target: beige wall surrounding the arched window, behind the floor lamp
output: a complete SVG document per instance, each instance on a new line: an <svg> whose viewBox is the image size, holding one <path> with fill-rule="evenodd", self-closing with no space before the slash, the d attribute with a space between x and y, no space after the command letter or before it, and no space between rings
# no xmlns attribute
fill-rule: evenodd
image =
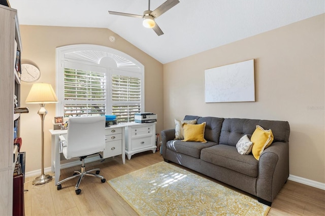
<svg viewBox="0 0 325 216"><path fill-rule="evenodd" d="M22 63L35 63L41 71L37 82L50 83L55 89L55 49L73 44L94 44L111 47L124 52L142 63L145 67L145 111L158 115L156 131L163 129L163 64L128 43L119 35L104 28L78 28L53 26L20 26L22 40ZM115 43L109 36L116 38ZM24 101L32 83L21 84L21 106L29 107L29 114L21 115L21 137L26 152L26 172L41 169L41 119L37 114L38 104L25 104ZM51 136L55 104L47 104L45 117L45 168L50 167Z"/></svg>

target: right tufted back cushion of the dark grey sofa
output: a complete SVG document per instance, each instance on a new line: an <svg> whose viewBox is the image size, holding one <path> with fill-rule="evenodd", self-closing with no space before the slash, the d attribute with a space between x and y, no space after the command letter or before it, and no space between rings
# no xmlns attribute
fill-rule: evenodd
<svg viewBox="0 0 325 216"><path fill-rule="evenodd" d="M273 142L289 141L290 127L286 121L228 118L222 123L219 144L236 146L243 135L247 134L249 138L251 137L256 125L271 129L274 136Z"/></svg>

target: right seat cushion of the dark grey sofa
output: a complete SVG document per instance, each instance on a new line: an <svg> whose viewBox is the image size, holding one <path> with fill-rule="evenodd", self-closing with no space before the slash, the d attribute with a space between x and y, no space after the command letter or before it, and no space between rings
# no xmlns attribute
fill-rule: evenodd
<svg viewBox="0 0 325 216"><path fill-rule="evenodd" d="M258 175L258 161L253 155L238 154L233 146L215 145L202 149L201 159L252 177Z"/></svg>

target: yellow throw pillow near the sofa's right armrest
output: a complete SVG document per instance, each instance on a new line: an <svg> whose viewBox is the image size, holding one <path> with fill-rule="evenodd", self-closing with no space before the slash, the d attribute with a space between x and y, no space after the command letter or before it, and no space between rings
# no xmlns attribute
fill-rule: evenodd
<svg viewBox="0 0 325 216"><path fill-rule="evenodd" d="M250 138L250 141L253 142L252 153L256 160L259 159L262 152L268 148L273 141L272 130L265 130L263 127L256 125L256 129Z"/></svg>

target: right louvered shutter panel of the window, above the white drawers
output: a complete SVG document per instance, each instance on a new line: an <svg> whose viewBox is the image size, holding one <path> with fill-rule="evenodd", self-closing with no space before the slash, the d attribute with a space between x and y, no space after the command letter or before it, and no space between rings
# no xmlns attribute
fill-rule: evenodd
<svg viewBox="0 0 325 216"><path fill-rule="evenodd" d="M141 111L141 79L120 75L112 76L112 114L118 122L134 121Z"/></svg>

